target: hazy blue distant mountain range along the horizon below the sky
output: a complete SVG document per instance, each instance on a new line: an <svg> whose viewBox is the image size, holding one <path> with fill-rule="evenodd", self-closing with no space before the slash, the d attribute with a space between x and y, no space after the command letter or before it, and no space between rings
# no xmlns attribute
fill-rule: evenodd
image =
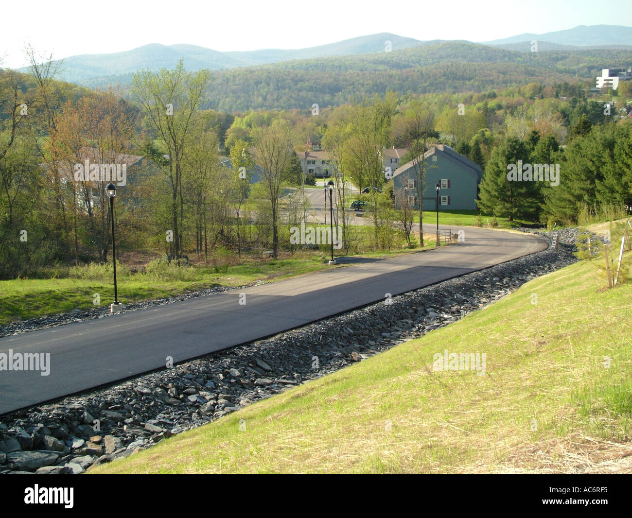
<svg viewBox="0 0 632 518"><path fill-rule="evenodd" d="M538 52L632 49L632 27L580 25L572 29L544 34L524 33L505 39L482 42L480 45L494 46L506 51L530 52L533 40L538 43ZM422 41L385 32L317 47L289 50L219 52L197 45L154 43L113 54L82 54L66 57L63 59L58 78L78 85L103 86L111 81L129 83L131 73L143 68L150 70L174 68L180 58L183 59L185 68L188 70L200 68L219 70L336 56L386 55L388 51L395 52L444 42L446 40ZM26 69L22 70L26 71Z"/></svg>

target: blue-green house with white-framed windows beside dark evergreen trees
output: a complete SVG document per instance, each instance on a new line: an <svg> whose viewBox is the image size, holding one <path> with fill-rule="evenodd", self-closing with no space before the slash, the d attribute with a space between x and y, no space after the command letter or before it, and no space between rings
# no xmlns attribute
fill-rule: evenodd
<svg viewBox="0 0 632 518"><path fill-rule="evenodd" d="M483 171L470 159L459 155L453 148L439 144L423 155L425 177L423 179L423 210L475 210L477 208L478 183ZM392 176L396 207L409 203L418 208L416 174L413 162L408 162L394 171Z"/></svg>

